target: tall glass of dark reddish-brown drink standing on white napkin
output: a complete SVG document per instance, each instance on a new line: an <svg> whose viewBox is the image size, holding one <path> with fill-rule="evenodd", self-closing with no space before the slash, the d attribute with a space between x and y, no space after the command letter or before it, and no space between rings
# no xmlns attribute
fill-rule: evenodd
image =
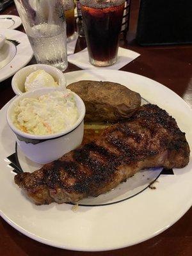
<svg viewBox="0 0 192 256"><path fill-rule="evenodd" d="M117 60L125 0L80 0L90 63L97 67Z"/></svg>

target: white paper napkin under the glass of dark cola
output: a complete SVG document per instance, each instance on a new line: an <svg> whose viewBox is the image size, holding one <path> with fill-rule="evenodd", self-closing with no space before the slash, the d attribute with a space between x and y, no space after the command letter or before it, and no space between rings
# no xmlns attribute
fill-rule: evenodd
<svg viewBox="0 0 192 256"><path fill-rule="evenodd" d="M132 60L138 58L140 54L138 52L134 52L131 50L124 49L122 47L118 48L118 60L116 63L109 67L95 67L92 64L90 64L89 58L88 58L88 49L85 48L83 51L77 52L76 54L72 54L68 56L68 62L76 65L79 68L82 69L112 69L112 70L118 70L127 63L131 62Z"/></svg>

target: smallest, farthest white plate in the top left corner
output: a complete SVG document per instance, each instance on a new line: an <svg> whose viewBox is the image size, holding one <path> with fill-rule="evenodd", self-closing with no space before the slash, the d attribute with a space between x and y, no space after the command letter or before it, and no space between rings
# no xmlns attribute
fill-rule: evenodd
<svg viewBox="0 0 192 256"><path fill-rule="evenodd" d="M16 15L0 15L0 28L15 29L22 24L19 16Z"/></svg>

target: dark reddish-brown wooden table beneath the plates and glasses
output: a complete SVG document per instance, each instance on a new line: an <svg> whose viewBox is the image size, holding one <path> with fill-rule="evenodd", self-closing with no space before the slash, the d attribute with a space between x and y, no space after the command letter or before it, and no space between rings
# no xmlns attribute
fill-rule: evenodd
<svg viewBox="0 0 192 256"><path fill-rule="evenodd" d="M121 40L120 45L133 51L140 52L141 56L121 68L150 77L164 84L186 100L192 106L192 45L141 47L135 42L136 24L138 17L139 0L132 0L130 29L127 40ZM11 6L0 14L17 15L15 6ZM23 28L18 28L23 31ZM84 40L78 40L76 51L85 47ZM35 63L34 58L30 63ZM30 64L29 63L29 64ZM80 70L69 63L65 72ZM11 87L12 77L0 83L0 108L14 96ZM191 116L192 117L192 116ZM1 195L2 200L2 195ZM177 221L172 227L143 243L109 252L72 252L53 248L38 243L12 228L0 218L0 255L98 255L98 256L191 256L192 253L192 209Z"/></svg>

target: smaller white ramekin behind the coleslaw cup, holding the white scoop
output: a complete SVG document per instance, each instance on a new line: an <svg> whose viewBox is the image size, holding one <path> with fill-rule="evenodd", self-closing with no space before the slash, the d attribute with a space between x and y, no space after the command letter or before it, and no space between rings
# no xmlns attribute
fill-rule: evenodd
<svg viewBox="0 0 192 256"><path fill-rule="evenodd" d="M64 74L58 68L52 67L50 65L45 64L34 64L29 65L27 67L21 68L19 71L15 73L12 78L12 88L13 92L16 95L21 95L25 93L24 83L26 81L27 76L32 72L42 69L49 73L59 85L56 87L57 90L65 90L66 88L66 79ZM45 88L45 87L44 87Z"/></svg>

